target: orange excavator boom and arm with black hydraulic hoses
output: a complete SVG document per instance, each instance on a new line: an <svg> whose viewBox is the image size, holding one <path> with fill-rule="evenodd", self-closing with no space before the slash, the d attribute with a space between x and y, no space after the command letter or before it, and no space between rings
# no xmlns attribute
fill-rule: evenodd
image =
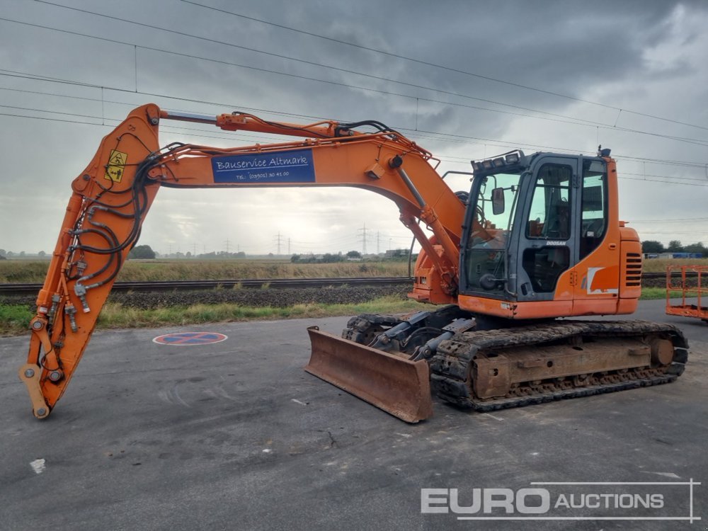
<svg viewBox="0 0 708 531"><path fill-rule="evenodd" d="M229 149L195 144L159 149L161 119L302 139ZM354 130L364 125L375 132ZM297 125L243 113L215 118L167 113L156 105L133 110L104 137L91 164L72 184L38 311L30 323L28 360L20 370L34 415L49 415L64 393L160 186L353 186L379 193L399 207L401 221L413 230L444 279L442 291L454 297L464 205L430 166L431 158L379 122ZM418 227L418 219L433 231L432 241Z"/></svg>

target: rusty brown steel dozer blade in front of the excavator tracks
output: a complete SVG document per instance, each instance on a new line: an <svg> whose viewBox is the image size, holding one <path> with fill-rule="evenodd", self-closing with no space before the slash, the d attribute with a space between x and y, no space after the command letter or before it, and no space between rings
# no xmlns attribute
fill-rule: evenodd
<svg viewBox="0 0 708 531"><path fill-rule="evenodd" d="M382 350L307 329L312 355L305 370L325 382L416 423L433 415L428 363L410 361Z"/></svg>

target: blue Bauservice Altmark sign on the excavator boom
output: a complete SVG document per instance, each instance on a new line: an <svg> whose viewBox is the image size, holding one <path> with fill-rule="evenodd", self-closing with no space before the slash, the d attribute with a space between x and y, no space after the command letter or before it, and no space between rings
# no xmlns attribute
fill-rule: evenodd
<svg viewBox="0 0 708 531"><path fill-rule="evenodd" d="M212 158L215 183L314 183L312 149Z"/></svg>

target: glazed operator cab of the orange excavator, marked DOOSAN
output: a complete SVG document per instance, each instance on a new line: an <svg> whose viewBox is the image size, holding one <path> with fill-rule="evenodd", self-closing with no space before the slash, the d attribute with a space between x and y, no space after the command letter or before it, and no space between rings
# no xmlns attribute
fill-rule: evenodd
<svg viewBox="0 0 708 531"><path fill-rule="evenodd" d="M622 238L619 222L608 230L610 160L516 151L474 162L460 306L479 311L484 300L492 314L510 319L570 316L587 314L582 302L590 296L592 313L618 313L621 279L613 264Z"/></svg>

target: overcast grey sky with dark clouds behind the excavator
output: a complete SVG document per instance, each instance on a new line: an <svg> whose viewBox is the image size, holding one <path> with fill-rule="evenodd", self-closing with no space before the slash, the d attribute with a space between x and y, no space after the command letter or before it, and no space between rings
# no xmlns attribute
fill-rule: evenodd
<svg viewBox="0 0 708 531"><path fill-rule="evenodd" d="M101 138L132 108L378 120L440 171L520 148L612 149L641 239L708 244L704 1L0 0L0 248L51 252ZM161 144L283 137L163 121ZM467 178L450 178L455 190ZM162 189L140 244L168 251L407 247L355 189Z"/></svg>

